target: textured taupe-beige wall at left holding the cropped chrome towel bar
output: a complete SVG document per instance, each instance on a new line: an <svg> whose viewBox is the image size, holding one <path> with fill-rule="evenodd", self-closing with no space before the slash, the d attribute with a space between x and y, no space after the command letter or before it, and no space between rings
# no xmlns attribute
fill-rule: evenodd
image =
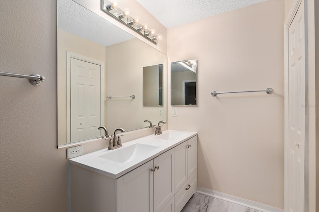
<svg viewBox="0 0 319 212"><path fill-rule="evenodd" d="M66 212L66 149L57 149L57 30L55 0L0 1L1 72L46 80L0 77L0 211ZM164 44L165 46L165 44ZM167 129L165 124L164 129ZM154 129L126 133L122 141ZM107 148L103 139L84 153Z"/></svg>

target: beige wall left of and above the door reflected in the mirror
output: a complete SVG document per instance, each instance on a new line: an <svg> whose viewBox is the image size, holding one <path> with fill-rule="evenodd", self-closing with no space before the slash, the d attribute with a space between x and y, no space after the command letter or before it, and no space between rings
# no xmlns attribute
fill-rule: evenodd
<svg viewBox="0 0 319 212"><path fill-rule="evenodd" d="M67 52L72 52L94 60L99 60L105 65L105 47L62 29L57 30L58 40L58 144L67 143ZM104 66L105 67L105 66ZM103 70L105 73L105 70ZM105 74L103 74L105 78ZM104 80L105 82L105 80ZM104 101L104 100L102 100ZM70 104L70 103L69 103Z"/></svg>

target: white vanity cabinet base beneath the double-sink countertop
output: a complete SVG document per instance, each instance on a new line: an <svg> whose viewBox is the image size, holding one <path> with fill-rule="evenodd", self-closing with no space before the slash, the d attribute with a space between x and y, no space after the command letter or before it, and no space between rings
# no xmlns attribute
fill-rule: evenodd
<svg viewBox="0 0 319 212"><path fill-rule="evenodd" d="M197 189L197 135L165 150L114 178L72 161L68 211L180 212Z"/></svg>

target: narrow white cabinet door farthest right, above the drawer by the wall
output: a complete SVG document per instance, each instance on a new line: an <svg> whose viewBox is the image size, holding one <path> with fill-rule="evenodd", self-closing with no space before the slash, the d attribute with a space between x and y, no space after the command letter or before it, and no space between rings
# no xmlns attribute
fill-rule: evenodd
<svg viewBox="0 0 319 212"><path fill-rule="evenodd" d="M187 148L187 172L188 177L197 169L197 136L188 140Z"/></svg>

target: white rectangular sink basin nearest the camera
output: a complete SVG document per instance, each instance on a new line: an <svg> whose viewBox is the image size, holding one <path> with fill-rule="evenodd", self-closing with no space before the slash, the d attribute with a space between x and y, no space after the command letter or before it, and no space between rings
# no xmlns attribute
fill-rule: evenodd
<svg viewBox="0 0 319 212"><path fill-rule="evenodd" d="M137 143L126 147L120 147L116 150L110 150L110 152L99 155L98 157L118 163L128 163L157 148L160 147Z"/></svg>

